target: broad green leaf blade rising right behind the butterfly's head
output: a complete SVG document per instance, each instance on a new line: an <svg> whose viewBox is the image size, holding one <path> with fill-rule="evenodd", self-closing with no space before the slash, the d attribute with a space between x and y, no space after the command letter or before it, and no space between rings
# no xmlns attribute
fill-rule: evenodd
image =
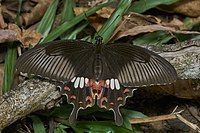
<svg viewBox="0 0 200 133"><path fill-rule="evenodd" d="M118 23L121 21L122 16L130 7L132 0L121 0L115 11L98 31L95 36L101 36L103 38L103 43L107 43L112 36L114 30L116 29ZM93 42L95 41L95 38Z"/></svg>

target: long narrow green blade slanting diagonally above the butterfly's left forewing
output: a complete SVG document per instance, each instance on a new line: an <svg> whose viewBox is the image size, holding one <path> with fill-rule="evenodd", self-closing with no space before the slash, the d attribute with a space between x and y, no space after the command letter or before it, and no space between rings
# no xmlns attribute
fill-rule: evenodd
<svg viewBox="0 0 200 133"><path fill-rule="evenodd" d="M100 10L101 8L111 4L111 2L113 2L113 0L109 0L107 3L103 3L98 6L95 6L91 9L89 9L88 11L76 16L69 22L63 23L62 25L58 26L54 31L52 31L46 38L44 38L42 43L53 41L54 39L59 37L61 34L63 34L65 31L69 30L70 28L72 28L73 26L75 26L76 24L81 22L86 17L94 14L96 11Z"/></svg>

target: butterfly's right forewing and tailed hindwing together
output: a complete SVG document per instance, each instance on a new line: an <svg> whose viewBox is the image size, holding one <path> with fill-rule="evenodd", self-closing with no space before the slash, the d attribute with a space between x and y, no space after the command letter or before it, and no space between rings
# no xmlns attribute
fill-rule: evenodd
<svg viewBox="0 0 200 133"><path fill-rule="evenodd" d="M131 44L110 44L102 48L103 73L108 81L98 98L101 108L113 110L122 125L119 107L132 96L134 87L172 83L177 79L173 66L159 55ZM120 86L120 87L119 87Z"/></svg>

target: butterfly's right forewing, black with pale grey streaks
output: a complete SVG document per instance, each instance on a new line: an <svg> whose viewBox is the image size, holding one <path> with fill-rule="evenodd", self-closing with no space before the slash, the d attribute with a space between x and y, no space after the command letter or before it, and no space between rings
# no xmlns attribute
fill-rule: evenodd
<svg viewBox="0 0 200 133"><path fill-rule="evenodd" d="M131 44L110 44L102 49L106 69L126 87L142 87L173 83L174 67L161 56ZM102 75L106 79L107 72Z"/></svg>

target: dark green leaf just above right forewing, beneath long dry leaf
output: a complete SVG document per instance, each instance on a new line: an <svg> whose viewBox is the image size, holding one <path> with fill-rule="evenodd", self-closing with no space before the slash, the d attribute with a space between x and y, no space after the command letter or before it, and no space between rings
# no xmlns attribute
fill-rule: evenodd
<svg viewBox="0 0 200 133"><path fill-rule="evenodd" d="M134 45L163 44L171 40L173 36L164 31L147 33L133 40Z"/></svg>

